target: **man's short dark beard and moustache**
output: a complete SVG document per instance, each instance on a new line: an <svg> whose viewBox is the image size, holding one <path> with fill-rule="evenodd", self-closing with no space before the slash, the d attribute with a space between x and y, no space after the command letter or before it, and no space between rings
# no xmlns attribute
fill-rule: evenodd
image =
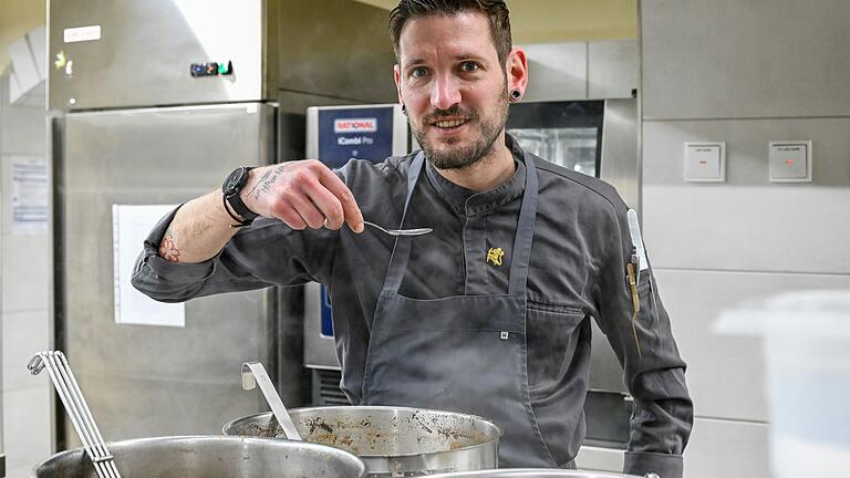
<svg viewBox="0 0 850 478"><path fill-rule="evenodd" d="M422 150L425 153L425 158L435 167L439 169L462 169L471 166L493 150L493 145L498 139L499 134L505 129L505 124L508 121L508 104L509 94L508 85L505 83L505 90L497 100L496 111L489 117L481 117L478 112L474 110L463 110L458 105L453 105L448 110L434 110L423 117L422 126L416 126L413 121L410 122L411 131L416 142L422 146ZM466 146L457 146L448 150L439 149L436 141L429 141L425 135L425 129L432 126L435 121L439 121L442 117L449 116L464 116L469 118L469 122L477 122L478 124L478 139ZM452 146L458 143L456 138L447 138L440 141L443 145Z"/></svg>

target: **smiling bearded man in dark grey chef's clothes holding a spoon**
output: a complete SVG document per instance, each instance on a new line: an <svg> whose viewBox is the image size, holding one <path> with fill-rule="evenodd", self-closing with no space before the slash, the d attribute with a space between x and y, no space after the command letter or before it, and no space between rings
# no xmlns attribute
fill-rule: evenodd
<svg viewBox="0 0 850 478"><path fill-rule="evenodd" d="M685 364L628 207L505 134L528 65L504 1L403 0L390 29L423 152L335 174L314 160L238 169L163 219L134 284L183 301L323 282L352 403L488 417L505 430L502 467L573 466L592 316L634 397L625 471L681 477ZM433 232L395 239L364 217Z"/></svg>

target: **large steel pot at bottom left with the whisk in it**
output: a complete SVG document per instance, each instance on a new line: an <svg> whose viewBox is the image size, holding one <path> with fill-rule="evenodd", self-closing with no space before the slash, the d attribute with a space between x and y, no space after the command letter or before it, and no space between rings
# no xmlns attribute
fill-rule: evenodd
<svg viewBox="0 0 850 478"><path fill-rule="evenodd" d="M186 436L106 444L124 478L363 478L366 467L341 449L303 441ZM35 467L35 478L95 478L82 448Z"/></svg>

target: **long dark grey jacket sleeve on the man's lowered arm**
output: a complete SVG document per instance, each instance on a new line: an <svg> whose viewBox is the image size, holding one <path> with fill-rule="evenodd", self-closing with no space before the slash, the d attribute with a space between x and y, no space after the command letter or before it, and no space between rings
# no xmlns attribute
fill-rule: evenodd
<svg viewBox="0 0 850 478"><path fill-rule="evenodd" d="M682 478L682 453L693 426L685 362L649 267L640 271L640 310L634 315L626 272L633 245L625 214L623 205L611 227L595 291L598 323L620 360L623 381L634 398L623 472Z"/></svg>

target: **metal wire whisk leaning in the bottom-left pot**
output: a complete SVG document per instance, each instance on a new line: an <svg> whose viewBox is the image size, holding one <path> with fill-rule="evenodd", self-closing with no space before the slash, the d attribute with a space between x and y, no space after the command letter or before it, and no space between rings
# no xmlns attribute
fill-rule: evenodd
<svg viewBox="0 0 850 478"><path fill-rule="evenodd" d="M113 456L106 449L101 430L94 423L89 404L85 403L80 385L74 378L74 373L68 365L65 354L60 351L39 352L32 357L27 368L31 374L38 375L42 370L48 368L53 386L56 388L62 405L65 406L68 416L76 429L76 434L83 441L83 448L86 455L94 464L94 470L100 478L121 478L118 469L115 467Z"/></svg>

